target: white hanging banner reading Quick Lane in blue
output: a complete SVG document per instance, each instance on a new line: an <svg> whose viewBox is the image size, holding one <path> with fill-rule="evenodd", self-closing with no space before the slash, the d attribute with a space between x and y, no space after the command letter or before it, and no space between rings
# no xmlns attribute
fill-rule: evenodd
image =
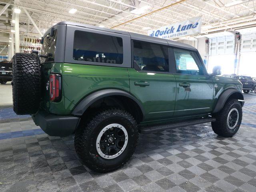
<svg viewBox="0 0 256 192"><path fill-rule="evenodd" d="M201 25L202 17L195 17L180 23L174 23L155 30L149 30L148 35L162 39L179 38L200 33Z"/></svg>

